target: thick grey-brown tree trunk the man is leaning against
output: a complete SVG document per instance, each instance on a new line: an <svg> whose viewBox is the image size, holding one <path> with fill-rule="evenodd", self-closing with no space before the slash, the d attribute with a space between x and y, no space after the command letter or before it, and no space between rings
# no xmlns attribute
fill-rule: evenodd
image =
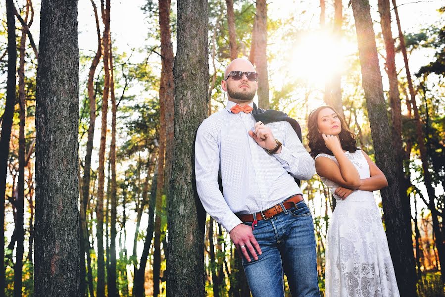
<svg viewBox="0 0 445 297"><path fill-rule="evenodd" d="M167 296L203 297L205 211L196 192L193 164L196 131L208 111L207 0L178 0L177 15L175 145L168 209Z"/></svg>

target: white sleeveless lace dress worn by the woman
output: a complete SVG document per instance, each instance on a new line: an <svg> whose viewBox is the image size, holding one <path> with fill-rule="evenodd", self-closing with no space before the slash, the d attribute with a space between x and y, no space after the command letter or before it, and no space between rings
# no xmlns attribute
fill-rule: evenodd
<svg viewBox="0 0 445 297"><path fill-rule="evenodd" d="M361 179L370 177L361 150L345 152ZM318 154L337 162L334 156ZM320 177L337 199L326 247L326 297L399 297L393 261L374 195L355 190L345 200L334 182Z"/></svg>

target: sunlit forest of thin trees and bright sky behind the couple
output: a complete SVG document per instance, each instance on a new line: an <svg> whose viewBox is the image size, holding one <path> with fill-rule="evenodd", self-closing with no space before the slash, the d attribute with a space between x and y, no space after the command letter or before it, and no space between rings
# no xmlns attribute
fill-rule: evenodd
<svg viewBox="0 0 445 297"><path fill-rule="evenodd" d="M417 296L442 296L445 3L370 1L372 39L385 102L383 113L370 114L371 100L362 82L366 73L359 52L362 41L361 31L356 29L360 20L356 2L208 0L205 13L194 11L194 17L207 26L208 73L200 78L208 78L208 85L202 86L207 94L206 113L219 110L227 100L220 87L224 68L231 59L245 57L260 74L255 102L297 119L304 145L309 112L328 103L343 114L357 135L358 145L378 164L374 144L394 148L396 171L389 180L398 180L400 202L385 204L393 198L385 200L387 194L379 191L375 198L387 232L398 224L406 235L400 243L400 255L407 257L407 268L397 270L395 264L396 276L414 281L412 291ZM177 104L174 57L180 48L199 53L177 40L177 4L170 0L78 2L76 203L82 296L168 295L168 226L175 220L178 207L169 198L174 187L170 182L175 180L174 135L179 127L173 108ZM4 273L0 272L0 281L5 296L34 296L41 3L6 0L6 5L5 1L0 4L2 138L7 130L8 66L14 58L7 50L11 24L7 7L16 27L12 39L16 83L9 153L1 150L7 174L0 180L4 191L0 214L4 218L4 256L0 255ZM195 30L195 24L189 23L185 32ZM371 133L376 121L388 122L391 135L377 129ZM190 129L196 131L196 127ZM382 141L386 141L383 146ZM190 163L188 159L175 161ZM326 232L335 200L317 175L303 181L302 189L313 215L319 285L324 294ZM72 223L60 222L62 227ZM201 274L205 296L250 296L227 232L208 215L203 226L205 268ZM391 246L391 233L387 235Z"/></svg>

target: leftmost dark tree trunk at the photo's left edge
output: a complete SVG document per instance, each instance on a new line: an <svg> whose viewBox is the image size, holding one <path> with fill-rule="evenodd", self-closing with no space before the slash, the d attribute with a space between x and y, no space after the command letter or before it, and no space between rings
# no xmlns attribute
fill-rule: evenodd
<svg viewBox="0 0 445 297"><path fill-rule="evenodd" d="M14 2L6 0L6 23L8 31L8 75L6 81L6 103L1 121L0 135L0 238L4 238L4 197L6 192L6 175L8 170L9 140L11 139L12 118L15 105L15 69L17 51L15 49ZM5 288L4 241L0 243L0 292Z"/></svg>

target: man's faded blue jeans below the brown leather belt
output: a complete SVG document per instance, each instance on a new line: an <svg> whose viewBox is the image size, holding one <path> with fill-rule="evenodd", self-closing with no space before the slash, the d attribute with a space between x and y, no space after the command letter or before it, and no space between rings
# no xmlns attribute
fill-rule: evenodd
<svg viewBox="0 0 445 297"><path fill-rule="evenodd" d="M252 222L245 223L248 226ZM253 235L261 247L258 260L243 257L253 297L284 297L283 273L293 297L320 297L314 224L304 201L268 220L258 221Z"/></svg>

